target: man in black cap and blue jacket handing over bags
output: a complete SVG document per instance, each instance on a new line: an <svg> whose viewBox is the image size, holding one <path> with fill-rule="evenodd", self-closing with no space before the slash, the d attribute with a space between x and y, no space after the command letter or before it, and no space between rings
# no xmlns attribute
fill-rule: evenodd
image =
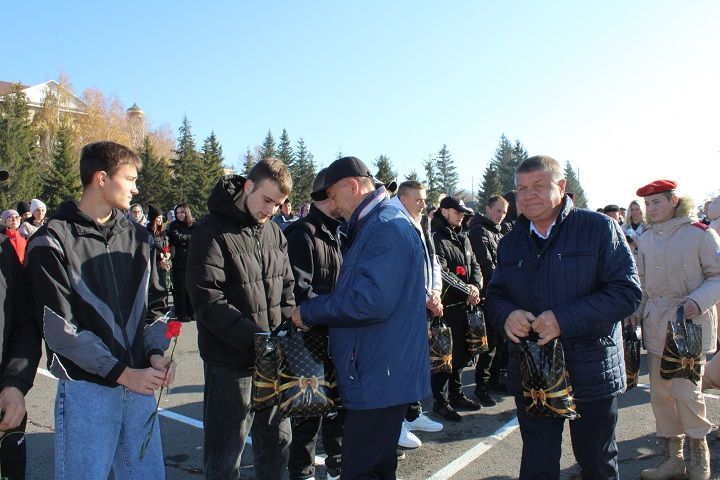
<svg viewBox="0 0 720 480"><path fill-rule="evenodd" d="M312 197L349 219L348 249L335 290L303 302L293 322L329 327L345 408L342 477L395 478L408 405L430 391L420 236L355 157L331 163Z"/></svg>

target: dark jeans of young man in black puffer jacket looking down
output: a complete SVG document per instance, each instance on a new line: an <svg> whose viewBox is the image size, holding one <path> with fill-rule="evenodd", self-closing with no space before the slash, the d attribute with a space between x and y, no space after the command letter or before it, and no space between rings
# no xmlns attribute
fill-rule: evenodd
<svg viewBox="0 0 720 480"><path fill-rule="evenodd" d="M277 407L250 412L252 377L205 364L205 478L240 478L240 457L252 433L253 464L258 480L281 480L290 456L290 419ZM399 433L399 432L398 432ZM397 440L396 440L397 441Z"/></svg>

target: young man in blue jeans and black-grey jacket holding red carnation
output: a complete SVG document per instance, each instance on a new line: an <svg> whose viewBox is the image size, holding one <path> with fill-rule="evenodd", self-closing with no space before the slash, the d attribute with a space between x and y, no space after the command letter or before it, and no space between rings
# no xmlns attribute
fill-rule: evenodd
<svg viewBox="0 0 720 480"><path fill-rule="evenodd" d="M155 390L175 372L163 356L165 322L155 318L164 295L152 236L121 211L138 193L140 168L123 145L86 145L80 201L61 204L28 244L36 316L59 379L56 479L165 476L159 423L146 425Z"/></svg>

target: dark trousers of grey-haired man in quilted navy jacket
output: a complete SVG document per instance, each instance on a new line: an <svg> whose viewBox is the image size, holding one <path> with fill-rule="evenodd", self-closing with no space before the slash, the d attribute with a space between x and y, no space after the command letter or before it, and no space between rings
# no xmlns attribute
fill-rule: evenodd
<svg viewBox="0 0 720 480"><path fill-rule="evenodd" d="M565 420L528 417L522 397L515 397L515 405L523 440L520 480L560 478ZM570 421L570 437L583 480L619 479L615 441L617 397L576 405L580 418Z"/></svg>

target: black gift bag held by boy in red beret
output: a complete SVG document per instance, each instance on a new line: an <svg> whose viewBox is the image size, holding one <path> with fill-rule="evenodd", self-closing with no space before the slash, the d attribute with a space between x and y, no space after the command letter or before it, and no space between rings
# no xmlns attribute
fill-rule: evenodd
<svg viewBox="0 0 720 480"><path fill-rule="evenodd" d="M687 378L697 385L704 364L702 325L686 319L685 309L680 306L675 318L668 322L665 348L660 360L660 376L666 380Z"/></svg>

